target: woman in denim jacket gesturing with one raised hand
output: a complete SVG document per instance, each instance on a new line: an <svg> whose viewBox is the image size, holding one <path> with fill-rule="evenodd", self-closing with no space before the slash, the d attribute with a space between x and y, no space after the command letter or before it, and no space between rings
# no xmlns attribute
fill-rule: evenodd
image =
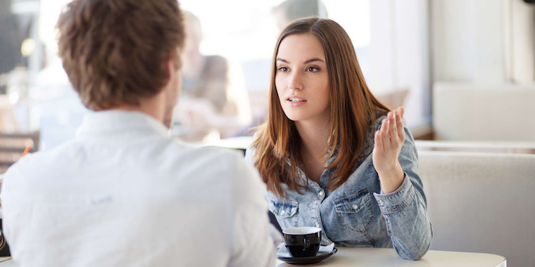
<svg viewBox="0 0 535 267"><path fill-rule="evenodd" d="M336 22L303 18L280 35L269 115L246 153L284 228L317 226L322 243L394 247L420 259L432 240L413 136L403 108L367 88Z"/></svg>

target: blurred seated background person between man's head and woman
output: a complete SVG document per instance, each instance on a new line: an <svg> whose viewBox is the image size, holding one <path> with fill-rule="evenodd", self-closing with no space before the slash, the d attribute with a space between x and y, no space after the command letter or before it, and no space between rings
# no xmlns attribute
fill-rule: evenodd
<svg viewBox="0 0 535 267"><path fill-rule="evenodd" d="M235 136L251 122L243 75L222 56L200 51L201 20L184 11L187 40L182 69L182 98L175 110L175 131L184 141Z"/></svg>

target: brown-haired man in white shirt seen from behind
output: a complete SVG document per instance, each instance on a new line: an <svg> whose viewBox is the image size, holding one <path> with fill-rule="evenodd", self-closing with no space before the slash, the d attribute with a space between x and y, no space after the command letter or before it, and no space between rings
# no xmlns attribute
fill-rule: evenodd
<svg viewBox="0 0 535 267"><path fill-rule="evenodd" d="M239 153L168 135L180 91L176 0L75 0L59 55L94 110L75 140L6 173L20 266L274 266L263 184Z"/></svg>

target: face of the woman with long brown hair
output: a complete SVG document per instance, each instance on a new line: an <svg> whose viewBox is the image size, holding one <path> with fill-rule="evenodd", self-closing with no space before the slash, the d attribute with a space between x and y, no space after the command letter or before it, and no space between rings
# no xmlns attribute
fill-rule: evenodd
<svg viewBox="0 0 535 267"><path fill-rule="evenodd" d="M284 114L294 122L329 121L329 74L313 34L285 37L276 58L275 86Z"/></svg>

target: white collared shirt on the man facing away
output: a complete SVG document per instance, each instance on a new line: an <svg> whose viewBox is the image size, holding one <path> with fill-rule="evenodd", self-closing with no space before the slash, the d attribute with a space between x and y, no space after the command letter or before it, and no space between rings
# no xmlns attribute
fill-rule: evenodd
<svg viewBox="0 0 535 267"><path fill-rule="evenodd" d="M264 192L239 152L93 112L74 141L7 171L4 235L20 266L275 266Z"/></svg>

